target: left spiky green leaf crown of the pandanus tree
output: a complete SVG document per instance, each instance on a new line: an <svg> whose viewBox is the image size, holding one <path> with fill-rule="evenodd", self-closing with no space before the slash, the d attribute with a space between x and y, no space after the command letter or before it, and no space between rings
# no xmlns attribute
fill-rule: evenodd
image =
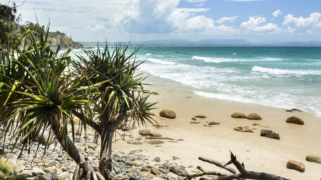
<svg viewBox="0 0 321 180"><path fill-rule="evenodd" d="M67 140L67 123L74 129L72 111L91 116L89 97L106 82L92 84L86 77L74 74L68 56L72 49L58 55L60 47L52 51L47 36L38 28L39 42L26 29L20 40L27 38L29 45L23 49L14 44L12 50L1 48L0 125L5 131L0 136L11 131L16 142L20 139L24 147L31 145L45 129L49 131L48 141L59 140L63 145Z"/></svg>

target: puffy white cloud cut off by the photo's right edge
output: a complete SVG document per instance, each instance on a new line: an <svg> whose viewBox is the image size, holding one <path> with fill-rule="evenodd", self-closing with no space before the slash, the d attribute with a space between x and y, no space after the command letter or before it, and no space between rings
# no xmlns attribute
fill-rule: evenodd
<svg viewBox="0 0 321 180"><path fill-rule="evenodd" d="M321 14L315 12L310 14L308 18L303 18L302 16L298 18L293 17L292 14L288 14L284 16L282 26L293 27L296 29L296 32L299 33L321 33Z"/></svg>

